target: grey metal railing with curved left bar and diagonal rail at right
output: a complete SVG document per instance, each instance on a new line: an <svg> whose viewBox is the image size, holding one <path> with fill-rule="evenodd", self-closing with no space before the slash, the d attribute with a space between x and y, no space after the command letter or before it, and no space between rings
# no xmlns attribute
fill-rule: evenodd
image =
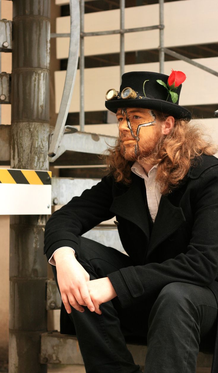
<svg viewBox="0 0 218 373"><path fill-rule="evenodd" d="M183 60L187 63L190 63L193 66L196 66L202 70L205 70L215 76L218 76L218 72L215 70L212 70L198 62L195 62L179 53L176 53L174 51L171 51L168 48L164 47L164 0L159 0L159 25L154 26L146 26L146 27L137 27L137 28L124 28L124 13L125 13L125 0L120 0L120 29L112 30L112 31L97 31L97 32L84 32L84 13L85 13L85 1L89 0L80 0L80 116L79 116L79 124L80 124L80 131L84 131L85 126L85 110L84 110L84 70L85 70L85 55L84 55L84 37L89 36L98 36L98 35L113 35L113 34L120 34L120 78L124 73L124 66L125 66L125 50L124 50L124 35L128 32L139 32L139 31L148 31L148 30L154 30L159 29L159 72L164 73L164 55L168 54L170 56L176 57L179 60ZM74 19L76 22L76 17L79 17L79 12L76 10L75 5L73 6L73 3L77 5L79 0L70 0L70 9L74 9ZM73 29L75 30L75 27L72 28L72 12L70 11L70 17L71 17L71 28L70 33L64 33L64 34L51 34L51 37L70 37L70 46L72 45L72 38L75 39L74 43L77 43L77 35L78 35L78 26L76 27L76 32L72 32ZM77 22L78 24L78 22ZM64 125L67 118L67 113L69 109L70 100L72 97L72 91L73 91L73 84L75 79L75 73L77 69L77 63L78 63L78 56L74 59L74 65L72 66L72 59L70 58L70 51L69 51L69 59L67 63L67 75L65 80L65 85L69 86L72 84L71 89L69 89L69 97L68 99L65 98L61 100L60 105L60 111L59 116L57 118L57 123L53 135L53 139L49 148L49 156L53 157L55 156L57 152L57 148L59 147L61 137L63 135L64 131ZM72 80L72 70L74 71L74 79ZM69 80L68 80L69 79ZM64 85L64 92L63 96L65 97L67 90L65 89ZM67 105L66 101L67 100Z"/></svg>

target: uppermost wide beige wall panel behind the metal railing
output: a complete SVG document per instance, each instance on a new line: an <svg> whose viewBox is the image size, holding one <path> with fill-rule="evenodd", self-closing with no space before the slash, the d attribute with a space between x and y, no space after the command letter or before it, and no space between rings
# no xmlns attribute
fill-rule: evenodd
<svg viewBox="0 0 218 373"><path fill-rule="evenodd" d="M216 0L183 0L164 4L165 47L217 42ZM157 25L159 5L126 8L125 27ZM206 16L205 16L206 15ZM119 10L85 14L85 32L119 29ZM185 23L184 23L185 20ZM70 31L70 18L57 18L57 32ZM57 58L67 58L69 38L64 43L57 39ZM85 38L85 55L118 53L119 35ZM132 32L125 35L125 50L157 48L159 31Z"/></svg>

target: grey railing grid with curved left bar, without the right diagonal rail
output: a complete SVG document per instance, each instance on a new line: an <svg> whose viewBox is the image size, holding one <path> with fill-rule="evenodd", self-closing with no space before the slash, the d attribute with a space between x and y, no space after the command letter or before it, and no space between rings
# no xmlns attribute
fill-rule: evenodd
<svg viewBox="0 0 218 373"><path fill-rule="evenodd" d="M137 27L137 28L124 28L124 15L125 15L125 0L120 0L120 29L112 31L98 31L98 32L84 32L84 14L85 14L85 0L80 0L80 12L79 0L70 0L70 33L56 34L52 33L51 38L57 37L70 37L70 50L67 63L67 73L64 84L63 96L61 99L59 115L57 117L56 126L54 129L54 134L49 147L48 155L54 157L57 153L61 138L64 132L64 125L67 119L67 113L69 110L70 100L72 97L73 85L75 82L75 74L78 65L78 52L77 45L79 43L78 32L80 31L80 57L79 57L79 68L80 68L80 115L79 124L80 131L84 131L85 127L85 110L84 110L84 70L85 70L85 55L84 55L84 37L97 36L97 35L113 35L120 34L120 78L124 73L125 66L125 50L124 50L124 34L128 32L139 32L139 31L149 31L154 29L159 29L159 41L160 41L160 72L164 72L164 0L159 0L159 25ZM73 9L73 12L72 12ZM73 13L73 14L72 14ZM78 17L78 19L76 19ZM80 19L80 30L79 22ZM75 47L75 56L73 60L72 48L73 40ZM73 74L73 79L72 79ZM71 87L70 87L71 85Z"/></svg>

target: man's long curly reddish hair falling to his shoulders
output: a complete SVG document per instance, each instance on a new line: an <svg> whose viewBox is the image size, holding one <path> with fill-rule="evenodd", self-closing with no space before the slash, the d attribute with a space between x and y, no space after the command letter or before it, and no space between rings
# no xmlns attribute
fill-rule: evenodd
<svg viewBox="0 0 218 373"><path fill-rule="evenodd" d="M158 122L164 121L168 115L156 112ZM217 146L205 138L202 128L184 119L175 119L173 129L168 135L162 135L154 151L149 156L139 155L138 162L158 164L156 181L161 193L168 194L186 176L197 156L213 155ZM117 182L131 184L131 167L134 162L124 159L120 151L120 141L108 149L106 164Z"/></svg>

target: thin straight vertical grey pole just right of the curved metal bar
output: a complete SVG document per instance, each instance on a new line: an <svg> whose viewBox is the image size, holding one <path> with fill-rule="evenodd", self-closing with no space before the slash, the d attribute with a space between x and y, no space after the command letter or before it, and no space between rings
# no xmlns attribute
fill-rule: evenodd
<svg viewBox="0 0 218 373"><path fill-rule="evenodd" d="M79 114L79 125L80 131L85 129L85 111L84 111L84 69L85 69L85 57L84 57L84 13L85 3L84 0L80 0L80 57L79 57L79 72L80 72L80 114Z"/></svg>

